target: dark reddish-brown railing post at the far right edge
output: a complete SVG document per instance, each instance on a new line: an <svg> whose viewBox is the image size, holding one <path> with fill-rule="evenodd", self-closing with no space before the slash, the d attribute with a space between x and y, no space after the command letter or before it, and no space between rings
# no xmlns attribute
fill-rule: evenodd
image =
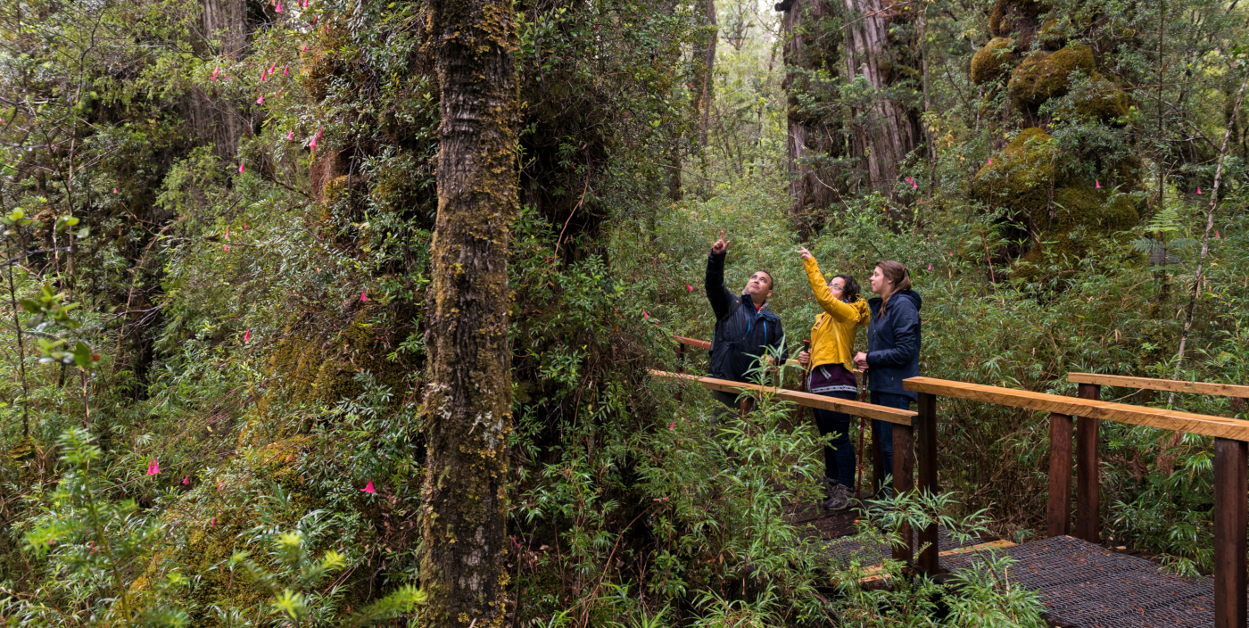
<svg viewBox="0 0 1249 628"><path fill-rule="evenodd" d="M1245 626L1249 443L1214 439L1214 626Z"/></svg>

